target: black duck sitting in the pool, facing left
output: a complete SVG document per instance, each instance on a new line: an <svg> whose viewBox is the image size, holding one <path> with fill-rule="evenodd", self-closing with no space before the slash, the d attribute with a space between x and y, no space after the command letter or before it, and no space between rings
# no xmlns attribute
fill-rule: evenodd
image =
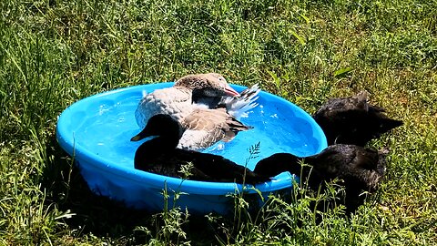
<svg viewBox="0 0 437 246"><path fill-rule="evenodd" d="M135 169L141 169L165 176L183 178L180 173L182 166L191 164L188 179L237 182L257 184L269 180L268 176L256 174L235 162L218 155L201 153L188 149L177 149L178 139L184 128L174 118L168 115L156 115L150 118L137 136L131 138L137 141L142 138L158 136L141 144L134 159Z"/></svg>

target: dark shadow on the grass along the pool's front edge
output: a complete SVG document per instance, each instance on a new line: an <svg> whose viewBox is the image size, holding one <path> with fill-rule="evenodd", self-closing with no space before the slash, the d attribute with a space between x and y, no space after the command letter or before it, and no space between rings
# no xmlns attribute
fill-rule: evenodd
<svg viewBox="0 0 437 246"><path fill-rule="evenodd" d="M214 219L212 221L206 216L190 214L187 222L178 224L174 218L164 218L163 212L152 214L147 210L129 209L123 202L97 196L88 189L79 169L59 147L55 136L51 137L46 149L46 156L52 157L47 161L42 176L47 202L55 203L61 211L70 210L75 214L65 220L69 230L66 233L74 237L92 233L98 238L109 238L114 243L127 245L146 243L153 239L161 243L192 241L197 245L219 242L227 244L242 237L241 233L265 233L266 228L269 228L272 235L281 235L293 234L293 231L300 231L302 227L317 226L322 217L316 210L326 211L332 204L336 204L334 194L321 199L317 195L308 198L306 192L298 192L294 196L287 193L273 202L269 201L261 214L258 214L259 210L241 209L241 217L212 215L209 216L209 219ZM290 207L290 203L294 205ZM332 210L330 208L328 211ZM340 217L346 217L341 215L343 210L337 212ZM177 231L183 231L187 237L179 240L179 234L174 240L175 232L170 231L172 235L165 238L163 231L173 230L166 228L166 223Z"/></svg>

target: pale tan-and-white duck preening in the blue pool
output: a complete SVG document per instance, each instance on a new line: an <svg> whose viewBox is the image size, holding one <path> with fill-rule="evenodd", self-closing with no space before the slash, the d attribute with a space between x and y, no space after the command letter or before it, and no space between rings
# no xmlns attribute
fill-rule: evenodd
<svg viewBox="0 0 437 246"><path fill-rule="evenodd" d="M255 100L259 91L258 85L254 85L239 95L216 73L181 77L174 87L158 89L143 97L136 111L137 125L144 128L152 116L170 115L187 129L178 148L206 149L251 128L237 118L247 116L247 111L258 106Z"/></svg>

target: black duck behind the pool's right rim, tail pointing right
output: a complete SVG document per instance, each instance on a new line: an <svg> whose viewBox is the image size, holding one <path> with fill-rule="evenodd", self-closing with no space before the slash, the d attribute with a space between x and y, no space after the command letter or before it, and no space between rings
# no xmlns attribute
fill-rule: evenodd
<svg viewBox="0 0 437 246"><path fill-rule="evenodd" d="M352 97L332 98L316 111L313 118L323 129L328 145L364 146L402 125L401 120L388 118L384 108L369 104L368 96L366 91L361 91Z"/></svg>

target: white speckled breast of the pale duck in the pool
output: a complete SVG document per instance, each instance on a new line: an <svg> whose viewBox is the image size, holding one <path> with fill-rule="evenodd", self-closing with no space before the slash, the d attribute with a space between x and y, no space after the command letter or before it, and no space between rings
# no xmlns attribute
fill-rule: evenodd
<svg viewBox="0 0 437 246"><path fill-rule="evenodd" d="M137 125L145 128L147 120L154 115L167 114L180 119L192 110L190 90L168 87L146 94L138 103L135 118Z"/></svg>

